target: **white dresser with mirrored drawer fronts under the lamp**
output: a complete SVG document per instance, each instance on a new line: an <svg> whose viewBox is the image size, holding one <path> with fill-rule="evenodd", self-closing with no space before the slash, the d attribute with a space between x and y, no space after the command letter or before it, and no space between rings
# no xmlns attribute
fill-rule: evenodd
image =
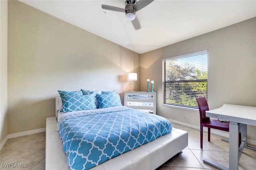
<svg viewBox="0 0 256 170"><path fill-rule="evenodd" d="M124 92L124 106L156 114L156 92Z"/></svg>

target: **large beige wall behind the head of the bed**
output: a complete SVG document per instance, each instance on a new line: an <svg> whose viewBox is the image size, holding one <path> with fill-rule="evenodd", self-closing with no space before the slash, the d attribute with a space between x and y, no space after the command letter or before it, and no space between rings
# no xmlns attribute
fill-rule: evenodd
<svg viewBox="0 0 256 170"><path fill-rule="evenodd" d="M57 90L116 90L123 102L132 84L122 78L133 71L140 77L139 66L138 53L9 1L8 134L44 128Z"/></svg>

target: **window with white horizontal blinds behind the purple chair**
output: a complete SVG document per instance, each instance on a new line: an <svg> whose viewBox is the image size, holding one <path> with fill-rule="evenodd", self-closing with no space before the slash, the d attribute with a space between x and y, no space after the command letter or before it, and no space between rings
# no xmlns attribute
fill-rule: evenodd
<svg viewBox="0 0 256 170"><path fill-rule="evenodd" d="M164 106L198 108L196 97L207 98L207 50L162 60Z"/></svg>

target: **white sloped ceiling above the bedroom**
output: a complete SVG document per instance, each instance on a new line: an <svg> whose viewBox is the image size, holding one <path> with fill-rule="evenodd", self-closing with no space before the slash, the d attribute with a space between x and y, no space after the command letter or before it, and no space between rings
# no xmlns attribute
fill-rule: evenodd
<svg viewBox="0 0 256 170"><path fill-rule="evenodd" d="M137 12L135 30L124 13L101 8L124 8L125 0L20 1L139 54L256 16L256 0L154 0Z"/></svg>

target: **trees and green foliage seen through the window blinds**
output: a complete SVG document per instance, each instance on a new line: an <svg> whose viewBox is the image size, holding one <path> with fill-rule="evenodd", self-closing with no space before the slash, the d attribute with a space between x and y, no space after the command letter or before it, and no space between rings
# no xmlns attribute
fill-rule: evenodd
<svg viewBox="0 0 256 170"><path fill-rule="evenodd" d="M197 107L196 97L207 97L207 72L186 63L185 66L166 62L163 89L164 104Z"/></svg>

